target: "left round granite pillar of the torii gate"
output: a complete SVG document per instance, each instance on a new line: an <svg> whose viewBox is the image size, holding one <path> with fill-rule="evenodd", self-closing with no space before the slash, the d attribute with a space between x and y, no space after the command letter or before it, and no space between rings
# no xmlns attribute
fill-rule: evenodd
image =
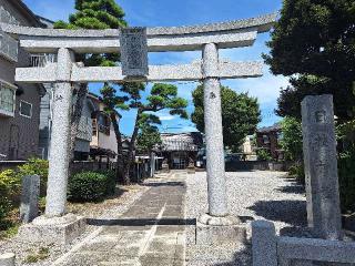
<svg viewBox="0 0 355 266"><path fill-rule="evenodd" d="M45 204L48 217L61 216L65 212L72 110L70 82L72 63L73 53L65 48L59 49Z"/></svg>

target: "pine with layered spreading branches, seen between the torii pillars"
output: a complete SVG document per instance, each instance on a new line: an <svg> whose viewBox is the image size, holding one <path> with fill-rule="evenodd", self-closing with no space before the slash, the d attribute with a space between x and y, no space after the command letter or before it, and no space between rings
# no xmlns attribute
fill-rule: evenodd
<svg viewBox="0 0 355 266"><path fill-rule="evenodd" d="M149 93L149 95L143 98L143 93ZM146 91L145 84L140 82L124 83L120 85L119 91L106 84L101 90L101 94L106 105L106 112L110 113L113 120L115 134L118 136L119 158L123 157L122 140L120 124L115 117L120 115L120 110L136 110L128 160L122 170L122 181L124 184L129 184L130 168L133 162L133 153L140 129L144 129L146 125L160 124L159 117L153 113L164 109L170 110L170 114L172 115L180 115L182 119L187 119L189 115L185 110L187 101L178 96L178 88L175 85L163 83L155 83L150 92Z"/></svg>

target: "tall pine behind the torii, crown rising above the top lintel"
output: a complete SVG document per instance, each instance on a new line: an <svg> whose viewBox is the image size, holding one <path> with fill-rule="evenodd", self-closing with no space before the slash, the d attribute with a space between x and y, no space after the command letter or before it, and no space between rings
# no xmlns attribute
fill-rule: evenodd
<svg viewBox="0 0 355 266"><path fill-rule="evenodd" d="M126 27L124 12L114 0L75 0L77 12L70 14L69 23L62 20L54 23L55 29L120 29ZM118 53L75 54L75 60L85 66L114 66L120 60ZM75 91L77 101L71 117L71 156L78 134L78 126L82 113L83 101L88 93L88 85L81 84Z"/></svg>

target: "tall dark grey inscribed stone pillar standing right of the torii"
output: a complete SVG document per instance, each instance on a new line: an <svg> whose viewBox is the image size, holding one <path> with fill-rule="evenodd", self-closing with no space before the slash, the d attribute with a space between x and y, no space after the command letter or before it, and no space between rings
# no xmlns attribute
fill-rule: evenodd
<svg viewBox="0 0 355 266"><path fill-rule="evenodd" d="M308 226L315 237L342 236L333 96L306 96L302 102L303 151Z"/></svg>

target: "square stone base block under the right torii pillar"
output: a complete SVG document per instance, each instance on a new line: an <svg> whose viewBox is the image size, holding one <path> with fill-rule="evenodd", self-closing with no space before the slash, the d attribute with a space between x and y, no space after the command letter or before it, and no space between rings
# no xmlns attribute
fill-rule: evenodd
<svg viewBox="0 0 355 266"><path fill-rule="evenodd" d="M246 225L205 225L196 223L196 244L217 245L226 243L246 243Z"/></svg>

